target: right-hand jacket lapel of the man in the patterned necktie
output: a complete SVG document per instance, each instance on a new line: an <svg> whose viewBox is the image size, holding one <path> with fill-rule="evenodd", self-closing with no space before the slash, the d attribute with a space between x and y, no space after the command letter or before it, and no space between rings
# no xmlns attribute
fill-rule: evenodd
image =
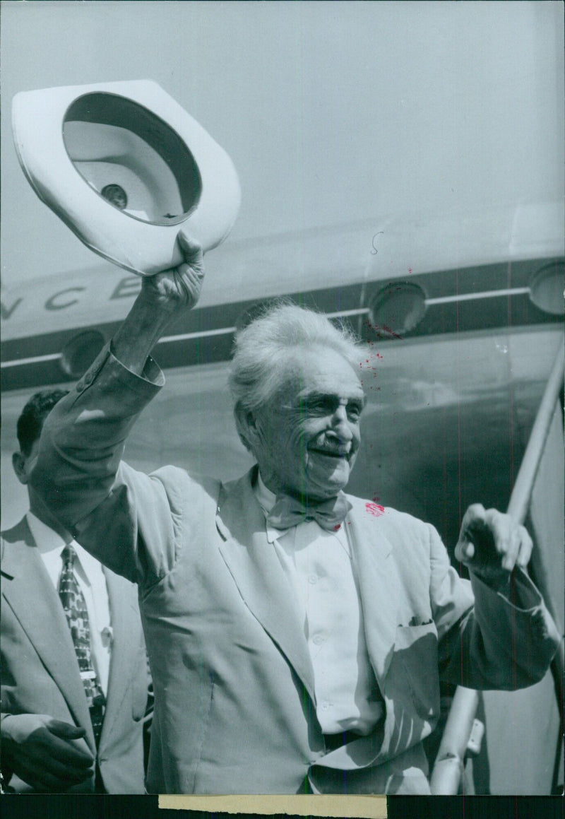
<svg viewBox="0 0 565 819"><path fill-rule="evenodd" d="M136 609L137 587L104 568L113 631L106 713L100 745L105 744L113 726L120 724L124 696L138 667L139 613Z"/></svg>

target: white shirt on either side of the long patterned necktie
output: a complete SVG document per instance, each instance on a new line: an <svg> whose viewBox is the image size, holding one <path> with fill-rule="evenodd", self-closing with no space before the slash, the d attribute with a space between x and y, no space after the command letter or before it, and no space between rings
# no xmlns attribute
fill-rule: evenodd
<svg viewBox="0 0 565 819"><path fill-rule="evenodd" d="M26 515L29 528L38 547L43 565L51 578L55 590L59 589L59 578L63 568L61 554L65 541L57 532L40 521L32 512ZM83 592L88 621L90 622L90 644L93 654L93 665L97 672L102 691L108 690L108 674L111 657L111 616L106 577L101 563L88 554L76 541L70 541L76 552L75 576Z"/></svg>

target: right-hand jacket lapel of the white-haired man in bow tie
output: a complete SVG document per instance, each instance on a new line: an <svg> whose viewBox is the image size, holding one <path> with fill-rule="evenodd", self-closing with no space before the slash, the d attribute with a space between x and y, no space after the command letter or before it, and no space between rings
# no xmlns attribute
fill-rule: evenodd
<svg viewBox="0 0 565 819"><path fill-rule="evenodd" d="M386 537L386 511L375 517L363 500L348 495L353 508L346 518L359 595L364 614L365 639L373 671L383 690L395 645L400 580L393 546Z"/></svg>

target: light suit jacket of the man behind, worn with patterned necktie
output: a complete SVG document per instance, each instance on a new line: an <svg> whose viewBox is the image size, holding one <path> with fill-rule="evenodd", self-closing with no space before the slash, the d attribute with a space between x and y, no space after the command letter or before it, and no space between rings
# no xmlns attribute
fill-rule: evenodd
<svg viewBox="0 0 565 819"><path fill-rule="evenodd" d="M75 647L61 601L47 575L25 518L2 532L2 717L44 713L82 726L96 755ZM147 661L137 589L104 570L114 639L106 714L97 753L109 793L142 794L142 717L147 704ZM83 741L83 740L81 740ZM30 790L18 777L8 783ZM92 790L93 782L74 790Z"/></svg>

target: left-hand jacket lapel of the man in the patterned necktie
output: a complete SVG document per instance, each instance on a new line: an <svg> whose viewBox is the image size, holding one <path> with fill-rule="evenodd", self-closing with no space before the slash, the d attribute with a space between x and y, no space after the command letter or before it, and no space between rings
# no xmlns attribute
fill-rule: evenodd
<svg viewBox="0 0 565 819"><path fill-rule="evenodd" d="M25 518L3 538L2 595L61 690L75 722L86 728L88 745L94 750L90 714L65 613Z"/></svg>

